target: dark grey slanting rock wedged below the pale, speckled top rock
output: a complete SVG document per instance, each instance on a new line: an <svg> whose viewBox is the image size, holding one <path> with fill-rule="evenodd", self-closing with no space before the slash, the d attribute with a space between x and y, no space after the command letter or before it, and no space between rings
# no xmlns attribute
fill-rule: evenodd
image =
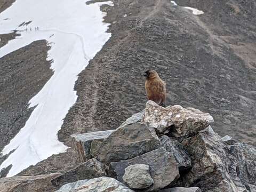
<svg viewBox="0 0 256 192"><path fill-rule="evenodd" d="M179 141L171 139L166 135L163 135L159 139L161 141L161 146L175 157L179 166L179 171L185 171L191 167L191 158Z"/></svg>

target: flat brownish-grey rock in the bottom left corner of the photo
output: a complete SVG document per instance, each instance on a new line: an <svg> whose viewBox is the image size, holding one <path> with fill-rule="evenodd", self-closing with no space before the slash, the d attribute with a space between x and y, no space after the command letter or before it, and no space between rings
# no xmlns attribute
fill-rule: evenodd
<svg viewBox="0 0 256 192"><path fill-rule="evenodd" d="M35 192L53 191L56 188L51 180L57 178L60 173L52 173L37 176L20 176L0 179L0 192Z"/></svg>

